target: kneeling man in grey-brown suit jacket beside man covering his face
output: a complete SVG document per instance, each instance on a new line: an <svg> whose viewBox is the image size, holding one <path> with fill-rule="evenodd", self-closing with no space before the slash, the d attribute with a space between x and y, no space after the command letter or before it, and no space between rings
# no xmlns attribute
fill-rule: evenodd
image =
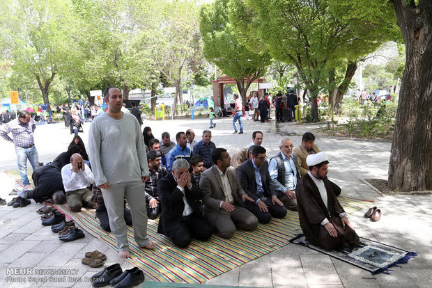
<svg viewBox="0 0 432 288"><path fill-rule="evenodd" d="M230 238L236 227L242 230L254 230L258 218L251 211L242 207L243 201L254 202L238 182L236 169L231 167L231 157L224 148L212 152L213 165L201 174L199 186L203 189L203 214L217 232L224 238Z"/></svg>

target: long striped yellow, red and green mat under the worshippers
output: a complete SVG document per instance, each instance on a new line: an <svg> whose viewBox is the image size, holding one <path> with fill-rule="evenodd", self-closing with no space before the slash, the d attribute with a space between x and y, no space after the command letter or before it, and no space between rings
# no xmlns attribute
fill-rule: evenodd
<svg viewBox="0 0 432 288"><path fill-rule="evenodd" d="M359 211L371 202L341 196L338 198L347 213ZM102 243L117 251L111 233L102 230L97 218L78 218L77 223ZM162 234L157 234L156 220L148 220L148 235L156 244L154 250L141 249L133 239L133 228L128 226L128 240L134 266L143 269L153 280L160 282L202 283L228 272L253 259L279 249L301 233L298 213L288 211L284 219L272 218L259 224L254 231L236 231L231 239L213 235L208 241L192 241L188 248L178 248Z"/></svg>

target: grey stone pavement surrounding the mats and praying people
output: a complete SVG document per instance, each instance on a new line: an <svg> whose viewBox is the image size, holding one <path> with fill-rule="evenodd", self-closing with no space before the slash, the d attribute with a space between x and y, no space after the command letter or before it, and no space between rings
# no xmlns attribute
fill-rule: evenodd
<svg viewBox="0 0 432 288"><path fill-rule="evenodd" d="M215 120L212 129L217 147L233 152L252 141L252 131L264 134L263 146L272 157L279 151L277 141L290 135L293 145L301 143L305 131L316 125L294 125L292 122L275 125L244 120L245 134L232 134L232 118ZM153 135L160 138L169 131L171 139L176 132L194 128L196 140L208 127L208 119L182 119L150 121L144 126L152 127ZM80 134L86 143L89 124ZM72 141L63 124L40 125L35 132L36 147L40 161L52 161L67 149ZM361 237L387 243L405 250L415 251L418 256L408 264L396 266L389 275L371 273L337 259L332 259L309 248L289 244L268 255L242 265L228 273L209 280L208 284L251 287L430 287L432 283L432 196L392 195L381 196L361 179L387 177L389 151L388 141L364 141L346 138L318 136L316 144L330 156L329 178L342 188L342 194L354 198L375 200L383 211L380 221L373 223L363 218L366 209L350 216L355 230ZM3 171L15 169L16 157L13 145L0 139L0 197L10 200L8 195L14 182ZM100 269L81 264L86 251L100 250L107 254L107 264L120 263L130 269L128 262L120 259L113 250L86 233L84 239L61 243L49 227L40 225L36 210L40 205L13 209L0 207L0 287L91 287L86 278ZM68 269L74 275L12 275L7 268ZM46 273L47 271L45 271ZM47 276L45 282L29 282ZM26 282L10 282L10 277L25 278ZM31 278L33 277L33 278ZM6 278L8 281L6 282Z"/></svg>

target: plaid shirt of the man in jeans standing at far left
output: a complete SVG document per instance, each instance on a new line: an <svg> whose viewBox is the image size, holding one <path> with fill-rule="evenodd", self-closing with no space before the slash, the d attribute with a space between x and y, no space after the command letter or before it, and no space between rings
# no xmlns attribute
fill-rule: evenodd
<svg viewBox="0 0 432 288"><path fill-rule="evenodd" d="M20 120L15 119L6 124L0 131L1 137L6 141L12 142L16 147L29 147L34 145L33 132L36 129L36 124L33 119L28 123L22 123ZM12 133L13 139L9 137Z"/></svg>

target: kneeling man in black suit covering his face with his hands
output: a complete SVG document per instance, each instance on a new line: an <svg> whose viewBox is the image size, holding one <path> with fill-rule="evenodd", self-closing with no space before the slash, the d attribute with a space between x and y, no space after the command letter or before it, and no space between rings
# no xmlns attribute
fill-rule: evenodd
<svg viewBox="0 0 432 288"><path fill-rule="evenodd" d="M203 191L190 181L189 163L185 159L177 159L171 173L157 182L162 205L157 232L167 236L180 248L189 246L192 238L205 241L212 236L212 228L196 203L203 198Z"/></svg>

